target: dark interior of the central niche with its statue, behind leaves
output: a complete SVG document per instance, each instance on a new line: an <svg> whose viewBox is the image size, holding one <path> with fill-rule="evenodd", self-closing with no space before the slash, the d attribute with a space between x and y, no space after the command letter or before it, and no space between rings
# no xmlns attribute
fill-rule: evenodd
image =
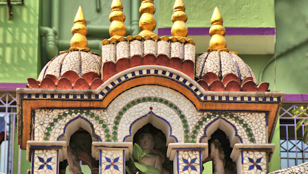
<svg viewBox="0 0 308 174"><path fill-rule="evenodd" d="M166 136L161 130L151 124L147 124L136 132L133 137L133 143L137 143L143 151L154 156L154 158L144 156L141 162L156 167L163 174L172 173L172 161L166 158ZM153 160L151 160L151 158ZM131 161L128 162L128 166L131 173L137 172L137 170L134 169L134 165L131 164Z"/></svg>

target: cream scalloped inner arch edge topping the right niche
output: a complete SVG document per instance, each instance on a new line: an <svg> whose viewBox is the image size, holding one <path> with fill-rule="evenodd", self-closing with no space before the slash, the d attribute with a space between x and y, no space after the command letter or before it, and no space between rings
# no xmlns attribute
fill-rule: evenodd
<svg viewBox="0 0 308 174"><path fill-rule="evenodd" d="M230 141L230 147L234 147L236 143L243 143L243 140L237 130L237 127L230 123L227 119L218 117L211 121L204 129L204 135L200 138L200 143L208 143L208 140L211 138L217 129L222 130L228 140Z"/></svg>

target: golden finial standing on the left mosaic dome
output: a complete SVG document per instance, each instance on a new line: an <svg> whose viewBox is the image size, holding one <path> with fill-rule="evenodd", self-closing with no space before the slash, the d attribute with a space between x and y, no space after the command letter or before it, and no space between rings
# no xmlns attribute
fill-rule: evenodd
<svg viewBox="0 0 308 174"><path fill-rule="evenodd" d="M86 19L83 14L83 11L81 9L81 6L79 6L79 9L76 13L75 19L74 19L74 25L71 30L73 37L70 41L71 47L70 50L87 50L90 49L87 48L88 41L86 38L86 35L88 33L87 27L86 27Z"/></svg>

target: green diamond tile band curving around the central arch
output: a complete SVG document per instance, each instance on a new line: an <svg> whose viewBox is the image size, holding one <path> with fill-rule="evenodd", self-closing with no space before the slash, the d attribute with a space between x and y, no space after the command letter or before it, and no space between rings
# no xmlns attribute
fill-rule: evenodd
<svg viewBox="0 0 308 174"><path fill-rule="evenodd" d="M131 102L129 102L125 107L123 107L117 117L115 117L114 119L114 127L113 127L113 132L112 132L112 137L108 137L106 140L107 141L116 141L118 140L118 125L120 123L120 120L123 116L123 114L129 110L131 107L135 106L135 105L138 105L139 103L143 103L143 102L159 102L159 103L162 103L168 107L170 107L172 110L174 110L178 116L180 117L181 121L182 121L182 126L184 128L184 141L185 143L190 143L190 136L189 136L189 127L187 125L187 119L185 117L185 115L183 114L183 112L174 104L174 103L171 103L170 101L166 100L166 99L162 99L162 98L157 98L157 97L143 97L143 98L138 98L136 100L133 100Z"/></svg>

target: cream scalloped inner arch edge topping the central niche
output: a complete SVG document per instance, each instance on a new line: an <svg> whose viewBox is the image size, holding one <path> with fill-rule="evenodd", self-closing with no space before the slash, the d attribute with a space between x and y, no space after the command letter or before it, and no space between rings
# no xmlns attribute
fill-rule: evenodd
<svg viewBox="0 0 308 174"><path fill-rule="evenodd" d="M178 138L172 135L172 128L169 122L166 119L156 115L152 111L133 121L133 123L129 127L129 135L126 135L124 137L123 142L133 142L134 134L136 134L136 132L140 128L142 128L144 125L148 123L152 124L157 129L160 129L165 134L166 146L169 143L178 143Z"/></svg>

